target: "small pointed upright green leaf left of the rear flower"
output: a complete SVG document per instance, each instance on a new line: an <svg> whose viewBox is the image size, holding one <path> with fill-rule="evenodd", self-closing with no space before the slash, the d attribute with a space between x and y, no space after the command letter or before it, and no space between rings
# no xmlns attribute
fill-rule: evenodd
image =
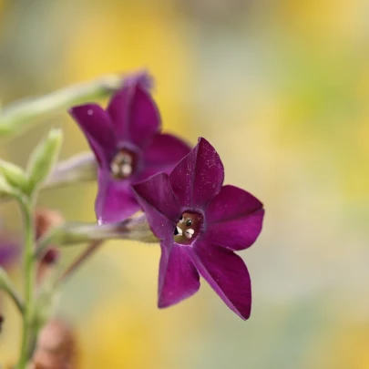
<svg viewBox="0 0 369 369"><path fill-rule="evenodd" d="M28 162L29 193L43 184L56 164L63 141L61 129L52 129L32 152Z"/></svg>

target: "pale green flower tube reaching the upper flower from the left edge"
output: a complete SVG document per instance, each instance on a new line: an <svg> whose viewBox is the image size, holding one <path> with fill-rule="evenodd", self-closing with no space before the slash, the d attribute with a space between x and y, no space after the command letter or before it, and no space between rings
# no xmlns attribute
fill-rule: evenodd
<svg viewBox="0 0 369 369"><path fill-rule="evenodd" d="M43 97L15 102L0 111L0 137L24 131L46 114L63 111L73 105L96 101L110 96L123 82L119 75L108 75L96 80L61 88Z"/></svg>

